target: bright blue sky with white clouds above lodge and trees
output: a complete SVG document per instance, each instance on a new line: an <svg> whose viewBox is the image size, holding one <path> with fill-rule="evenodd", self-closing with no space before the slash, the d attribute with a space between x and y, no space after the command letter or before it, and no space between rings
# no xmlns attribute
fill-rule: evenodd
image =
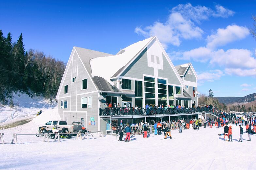
<svg viewBox="0 0 256 170"><path fill-rule="evenodd" d="M26 49L67 62L73 46L110 54L156 35L174 65L191 62L198 90L256 92L256 1L1 1L0 29Z"/></svg>

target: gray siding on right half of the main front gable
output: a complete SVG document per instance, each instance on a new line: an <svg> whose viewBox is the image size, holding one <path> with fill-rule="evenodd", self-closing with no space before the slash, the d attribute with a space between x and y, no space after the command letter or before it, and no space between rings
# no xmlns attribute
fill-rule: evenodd
<svg viewBox="0 0 256 170"><path fill-rule="evenodd" d="M168 83L170 84L181 85L178 77L176 76L175 72L173 71L172 67L170 66L164 54L163 54L163 68L164 68L163 70L158 69L159 77L168 78Z"/></svg>

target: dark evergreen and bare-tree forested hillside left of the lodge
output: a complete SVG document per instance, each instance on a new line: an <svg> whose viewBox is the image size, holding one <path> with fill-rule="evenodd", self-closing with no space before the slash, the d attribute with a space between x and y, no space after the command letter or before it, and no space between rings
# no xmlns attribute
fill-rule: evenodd
<svg viewBox="0 0 256 170"><path fill-rule="evenodd" d="M0 102L7 104L13 92L30 96L56 96L66 64L35 49L24 49L22 33L17 42L0 30Z"/></svg>

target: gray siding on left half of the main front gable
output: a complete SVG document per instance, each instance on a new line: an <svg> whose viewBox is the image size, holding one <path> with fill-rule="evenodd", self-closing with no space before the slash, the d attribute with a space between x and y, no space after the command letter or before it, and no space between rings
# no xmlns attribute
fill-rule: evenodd
<svg viewBox="0 0 256 170"><path fill-rule="evenodd" d="M121 76L143 79L142 74L154 75L154 68L148 67L147 48L122 72Z"/></svg>

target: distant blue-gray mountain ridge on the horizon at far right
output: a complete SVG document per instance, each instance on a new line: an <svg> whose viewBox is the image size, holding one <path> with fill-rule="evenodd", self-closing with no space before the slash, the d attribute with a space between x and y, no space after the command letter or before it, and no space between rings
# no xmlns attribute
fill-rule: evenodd
<svg viewBox="0 0 256 170"><path fill-rule="evenodd" d="M220 103L231 104L231 103L247 103L256 100L256 93L249 94L245 97L220 97L217 98Z"/></svg>

